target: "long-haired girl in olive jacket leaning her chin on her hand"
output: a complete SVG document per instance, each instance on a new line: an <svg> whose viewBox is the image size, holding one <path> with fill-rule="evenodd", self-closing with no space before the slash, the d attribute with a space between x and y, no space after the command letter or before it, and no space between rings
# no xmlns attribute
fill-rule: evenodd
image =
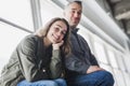
<svg viewBox="0 0 130 86"><path fill-rule="evenodd" d="M66 86L62 77L68 37L68 23L58 17L27 35L2 70L0 86Z"/></svg>

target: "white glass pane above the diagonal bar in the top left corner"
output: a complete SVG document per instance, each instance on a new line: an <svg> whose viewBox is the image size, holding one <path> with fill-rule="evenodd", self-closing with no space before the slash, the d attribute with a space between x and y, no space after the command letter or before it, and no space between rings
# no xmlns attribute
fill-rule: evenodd
<svg viewBox="0 0 130 86"><path fill-rule="evenodd" d="M0 17L34 31L29 0L0 0Z"/></svg>

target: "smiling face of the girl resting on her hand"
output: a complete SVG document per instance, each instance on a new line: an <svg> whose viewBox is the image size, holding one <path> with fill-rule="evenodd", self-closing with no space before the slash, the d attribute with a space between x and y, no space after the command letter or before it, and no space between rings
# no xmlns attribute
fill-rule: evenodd
<svg viewBox="0 0 130 86"><path fill-rule="evenodd" d="M51 43L58 43L61 42L67 31L67 26L62 20L57 20L50 27L50 30L47 34L47 38L50 40Z"/></svg>

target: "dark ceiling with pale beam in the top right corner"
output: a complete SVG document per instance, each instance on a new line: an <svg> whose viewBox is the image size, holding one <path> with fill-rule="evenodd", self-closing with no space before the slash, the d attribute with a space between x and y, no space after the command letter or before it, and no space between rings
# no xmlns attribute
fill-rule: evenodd
<svg viewBox="0 0 130 86"><path fill-rule="evenodd" d="M130 0L96 0L130 37Z"/></svg>

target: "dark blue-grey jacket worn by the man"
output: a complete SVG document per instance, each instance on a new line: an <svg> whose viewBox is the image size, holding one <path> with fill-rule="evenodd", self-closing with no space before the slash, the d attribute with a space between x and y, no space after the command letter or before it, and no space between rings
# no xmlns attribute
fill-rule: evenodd
<svg viewBox="0 0 130 86"><path fill-rule="evenodd" d="M87 74L89 67L96 66L98 61L91 54L89 45L82 37L78 35L78 41L75 38L70 41L73 53L66 57L66 68L77 73ZM83 52L82 54L81 51Z"/></svg>

